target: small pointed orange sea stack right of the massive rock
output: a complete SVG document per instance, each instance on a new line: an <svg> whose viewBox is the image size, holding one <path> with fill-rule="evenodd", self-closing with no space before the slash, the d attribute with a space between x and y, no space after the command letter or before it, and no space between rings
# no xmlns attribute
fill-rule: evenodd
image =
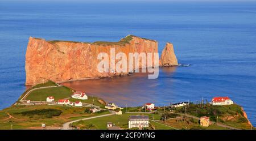
<svg viewBox="0 0 256 141"><path fill-rule="evenodd" d="M174 53L174 46L167 42L166 46L162 51L162 55L159 59L159 66L177 66L177 58Z"/></svg>

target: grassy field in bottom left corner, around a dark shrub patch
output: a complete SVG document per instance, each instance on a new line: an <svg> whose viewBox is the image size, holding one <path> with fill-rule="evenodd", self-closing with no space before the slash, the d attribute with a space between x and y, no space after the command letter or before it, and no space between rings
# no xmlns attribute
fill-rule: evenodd
<svg viewBox="0 0 256 141"><path fill-rule="evenodd" d="M31 111L35 109L57 109L61 110L60 116L47 118L38 115L23 116L21 112ZM72 121L73 119L80 119L84 117L98 116L100 114L107 114L108 112L102 113L85 113L86 108L77 108L71 106L53 106L53 105L13 105L10 108L6 108L0 111L0 129L40 129L41 123L45 123L47 128L51 127L62 127L63 123ZM9 113L14 118L9 118ZM7 119L9 118L9 119Z"/></svg>

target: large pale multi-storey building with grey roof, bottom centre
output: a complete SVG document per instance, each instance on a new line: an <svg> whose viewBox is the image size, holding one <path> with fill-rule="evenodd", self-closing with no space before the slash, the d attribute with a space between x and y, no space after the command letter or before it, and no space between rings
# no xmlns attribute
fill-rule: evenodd
<svg viewBox="0 0 256 141"><path fill-rule="evenodd" d="M129 117L129 122L128 122L128 127L129 129L131 128L144 128L148 127L149 123L149 118L148 116L130 116Z"/></svg>

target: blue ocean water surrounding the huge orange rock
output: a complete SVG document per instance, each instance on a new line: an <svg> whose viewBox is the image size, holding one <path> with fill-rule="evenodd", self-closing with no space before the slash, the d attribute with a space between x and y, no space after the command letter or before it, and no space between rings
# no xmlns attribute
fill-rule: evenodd
<svg viewBox="0 0 256 141"><path fill-rule="evenodd" d="M94 83L98 88L110 87L106 81L120 81L120 88L129 89L120 94L123 100L129 93L141 93L135 95L141 97L140 104L150 96L159 105L229 96L256 125L256 2L1 1L0 109L13 104L26 89L28 37L90 42L118 41L129 34L157 40L159 50L172 42L179 63L191 66L161 69L159 78L151 81L104 79ZM102 95L103 90L89 93Z"/></svg>

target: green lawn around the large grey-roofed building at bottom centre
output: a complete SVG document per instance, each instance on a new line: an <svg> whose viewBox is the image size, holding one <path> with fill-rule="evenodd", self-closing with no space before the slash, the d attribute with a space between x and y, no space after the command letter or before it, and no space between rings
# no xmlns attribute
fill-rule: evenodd
<svg viewBox="0 0 256 141"><path fill-rule="evenodd" d="M101 118L94 118L94 119L89 119L86 121L79 121L73 123L73 126L78 126L81 127L81 129L88 127L91 127L91 129L107 129L106 123L107 122L112 122L115 124L115 126L119 126L122 129L127 129L128 128L128 118L131 115L137 115L137 114L122 114L122 115L113 115L113 116L108 116L108 117L101 117ZM150 114L144 114L150 116ZM162 125L160 123L155 123L150 121L150 127L152 129L172 129L171 127Z"/></svg>

